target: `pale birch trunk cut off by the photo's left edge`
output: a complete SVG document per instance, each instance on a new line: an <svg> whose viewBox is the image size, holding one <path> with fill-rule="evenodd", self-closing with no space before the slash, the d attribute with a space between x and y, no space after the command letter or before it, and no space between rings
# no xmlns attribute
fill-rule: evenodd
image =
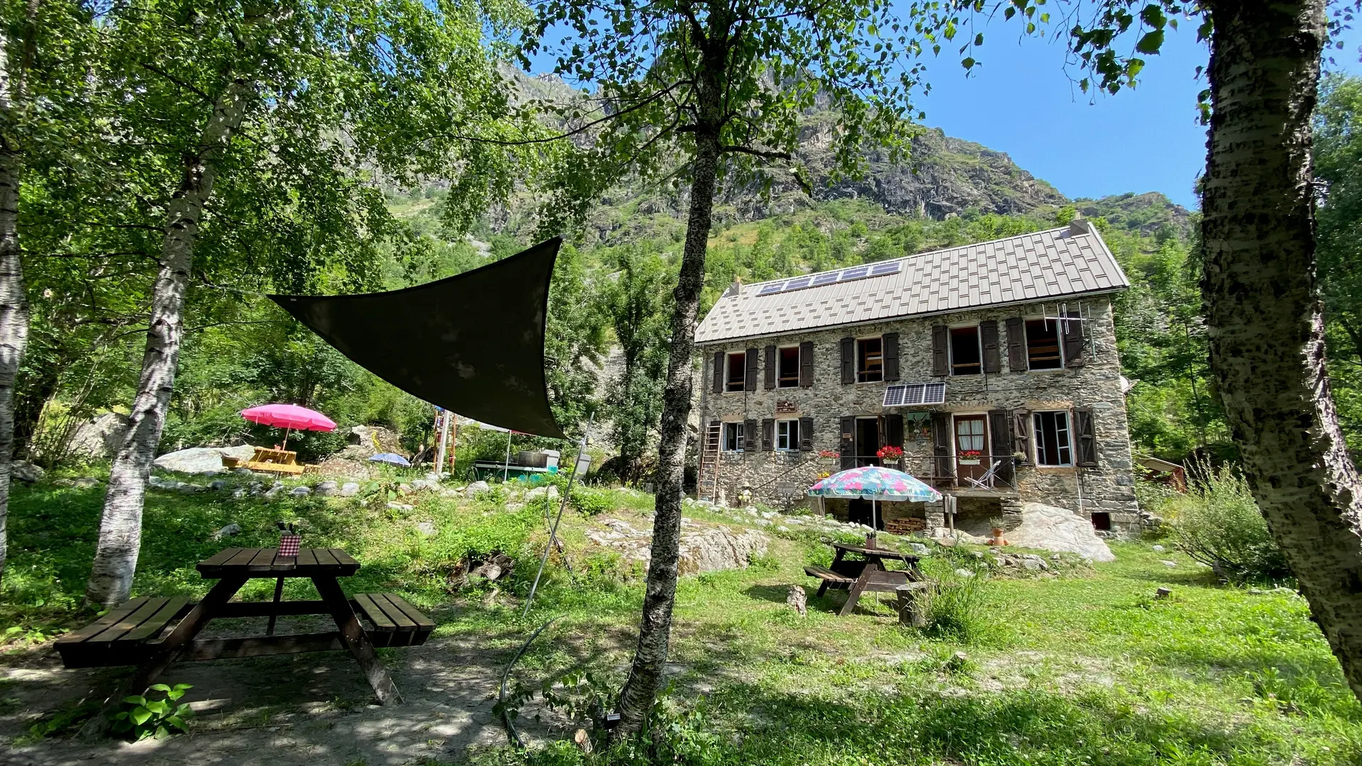
<svg viewBox="0 0 1362 766"><path fill-rule="evenodd" d="M29 23L37 14L27 4ZM31 33L31 30L29 30ZM30 38L31 40L31 38ZM19 110L23 61L10 59L10 35L0 30L0 578L8 559L10 462L14 458L14 379L29 342L29 300L23 289L19 248Z"/></svg>

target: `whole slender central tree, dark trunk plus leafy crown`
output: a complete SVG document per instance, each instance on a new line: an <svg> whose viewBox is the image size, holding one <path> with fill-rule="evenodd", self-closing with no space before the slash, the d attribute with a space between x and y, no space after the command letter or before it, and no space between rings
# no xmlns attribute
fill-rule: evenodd
<svg viewBox="0 0 1362 766"><path fill-rule="evenodd" d="M840 172L858 172L866 146L899 157L911 135L904 117L917 68L906 61L914 44L884 0L550 0L539 11L526 48L553 56L557 74L588 91L542 106L556 108L568 135L595 138L590 162L563 176L552 206L580 210L627 173L676 179L688 204L671 293L652 555L616 729L628 736L646 725L671 634L692 350L715 191L797 172L799 116L814 99L842 113L831 139Z"/></svg>

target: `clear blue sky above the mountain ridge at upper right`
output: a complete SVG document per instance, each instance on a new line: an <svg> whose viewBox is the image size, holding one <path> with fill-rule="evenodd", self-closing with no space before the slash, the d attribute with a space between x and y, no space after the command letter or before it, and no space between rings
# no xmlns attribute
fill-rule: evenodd
<svg viewBox="0 0 1362 766"><path fill-rule="evenodd" d="M1008 153L1071 198L1159 191L1194 207L1192 185L1205 165L1205 128L1196 97L1205 79L1205 45L1193 25L1170 31L1148 56L1140 85L1115 95L1081 93L1062 70L1062 42L1017 40L1016 25L985 29L983 61L967 79L956 59L929 60L932 91L917 105L925 124ZM1357 30L1336 50L1337 65L1362 74ZM1075 78L1080 76L1077 72Z"/></svg>

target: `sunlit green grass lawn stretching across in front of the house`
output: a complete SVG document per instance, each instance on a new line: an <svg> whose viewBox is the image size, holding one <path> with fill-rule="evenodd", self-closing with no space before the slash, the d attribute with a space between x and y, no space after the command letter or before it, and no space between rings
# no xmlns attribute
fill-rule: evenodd
<svg viewBox="0 0 1362 766"><path fill-rule="evenodd" d="M599 495L612 507L607 515L635 526L651 506L632 492ZM538 687L586 671L598 688L617 688L633 647L642 582L637 567L587 545L583 530L594 521L565 515L573 574L552 563L522 620L545 540L542 507L507 510L497 497L433 493L403 502L415 507L153 493L135 592L202 594L206 583L192 564L227 544L214 541L214 530L234 522L242 533L232 545L271 545L274 521L298 519L305 545L342 547L362 562L360 574L343 582L347 590L395 590L429 609L440 623L433 641L454 637L509 654L557 616L515 677ZM4 662L25 662L45 641L90 619L79 597L101 503L101 488L15 488L0 590ZM511 581L451 593L452 563L490 549L516 559ZM990 578L986 627L959 643L899 627L888 605L869 596L843 619L832 613L840 593L813 598L809 587L809 615L799 617L785 604L787 587L810 586L802 566L825 560L828 549L808 532L774 534L768 555L748 570L680 585L674 687L662 718L669 761L1362 763L1362 706L1303 600L1216 585L1205 568L1148 542L1113 551L1115 563L1094 568ZM252 581L248 597L267 598L270 586ZM1171 587L1173 597L1154 600L1159 586ZM289 593L294 598L309 597L302 582L289 581L289 587L297 589ZM583 761L576 748L552 743L528 754L492 750L473 758Z"/></svg>

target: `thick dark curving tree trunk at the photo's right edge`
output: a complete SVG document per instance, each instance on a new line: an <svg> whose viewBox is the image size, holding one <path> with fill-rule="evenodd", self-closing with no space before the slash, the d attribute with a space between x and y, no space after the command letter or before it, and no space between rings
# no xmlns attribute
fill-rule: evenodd
<svg viewBox="0 0 1362 766"><path fill-rule="evenodd" d="M1244 470L1362 699L1362 481L1324 369L1310 158L1325 0L1211 4L1201 289Z"/></svg>

